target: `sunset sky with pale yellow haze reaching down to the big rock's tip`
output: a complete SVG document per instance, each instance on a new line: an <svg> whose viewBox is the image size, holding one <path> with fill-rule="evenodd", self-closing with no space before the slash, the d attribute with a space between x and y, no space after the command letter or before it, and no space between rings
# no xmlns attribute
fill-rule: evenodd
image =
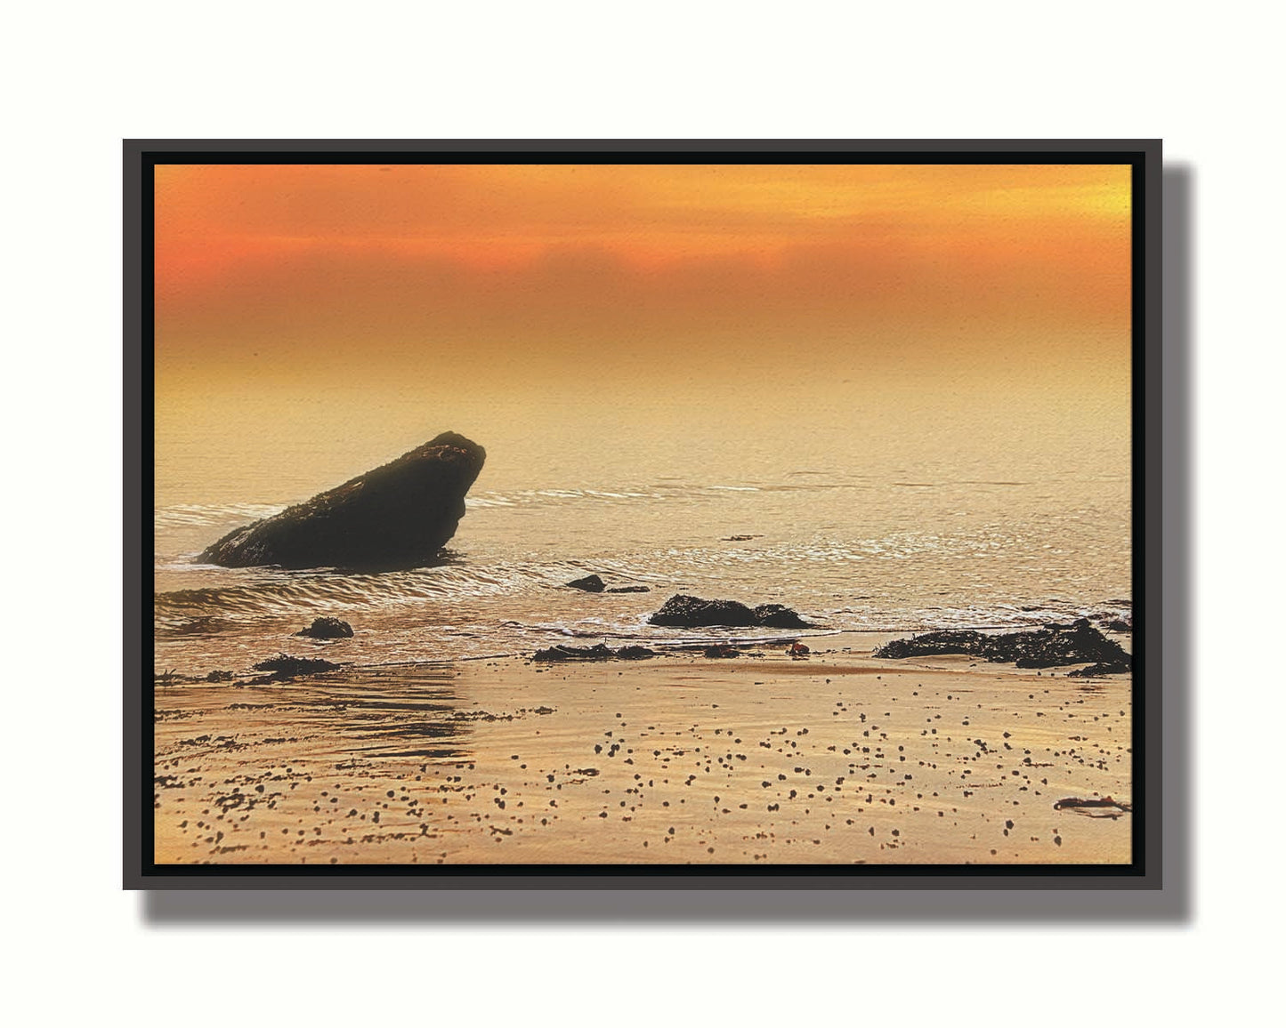
<svg viewBox="0 0 1286 1028"><path fill-rule="evenodd" d="M193 466L621 411L653 448L946 401L1031 445L1128 433L1129 314L1124 164L156 168L158 460Z"/></svg>

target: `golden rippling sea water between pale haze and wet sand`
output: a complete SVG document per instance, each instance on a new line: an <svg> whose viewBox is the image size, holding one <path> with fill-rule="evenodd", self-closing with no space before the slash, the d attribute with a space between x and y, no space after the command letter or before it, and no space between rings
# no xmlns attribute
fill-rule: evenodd
<svg viewBox="0 0 1286 1028"><path fill-rule="evenodd" d="M675 592L783 603L831 630L1129 613L1129 479L1120 447L1065 439L997 456L994 445L966 438L948 452L936 447L934 459L913 445L840 459L827 456L833 439L814 437L739 461L711 461L702 447L652 446L628 460L576 461L562 450L541 464L530 454L507 459L503 439L473 437L489 460L468 514L440 564L408 572L195 563L229 529L346 475L319 481L303 468L296 479L225 478L224 502L186 501L183 477L171 475L154 510L156 668L243 671L279 651L385 663L530 653L574 640L691 641L694 634L647 625ZM778 459L792 450L796 459ZM655 456L642 461L640 452ZM165 470L158 466L158 481ZM608 586L651 591L563 587L590 572ZM292 637L322 616L350 622L355 637Z"/></svg>

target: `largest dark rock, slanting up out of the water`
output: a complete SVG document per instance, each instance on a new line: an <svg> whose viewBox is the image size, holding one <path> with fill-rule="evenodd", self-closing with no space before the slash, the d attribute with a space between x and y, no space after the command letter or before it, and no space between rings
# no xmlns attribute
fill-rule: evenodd
<svg viewBox="0 0 1286 1028"><path fill-rule="evenodd" d="M486 451L444 432L391 464L237 528L201 559L228 568L394 571L430 563L464 517Z"/></svg>

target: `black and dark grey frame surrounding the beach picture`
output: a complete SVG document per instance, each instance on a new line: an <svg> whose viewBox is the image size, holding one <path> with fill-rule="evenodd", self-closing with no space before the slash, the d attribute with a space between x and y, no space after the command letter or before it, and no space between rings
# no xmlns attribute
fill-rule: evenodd
<svg viewBox="0 0 1286 1028"><path fill-rule="evenodd" d="M156 865L152 826L153 168L163 163L1114 163L1132 167L1133 860L1129 865ZM1163 173L1160 140L125 140L123 888L1129 889L1163 882ZM1165 276L1168 288L1182 284ZM1182 299L1175 298L1182 305ZM1186 310L1186 307L1179 307ZM1179 383L1182 384L1182 383ZM1169 429L1181 427L1170 425ZM1165 553L1172 554L1173 547ZM1186 580L1184 580L1186 581ZM1173 623L1173 618L1166 618ZM1172 885L1177 883L1170 883Z"/></svg>

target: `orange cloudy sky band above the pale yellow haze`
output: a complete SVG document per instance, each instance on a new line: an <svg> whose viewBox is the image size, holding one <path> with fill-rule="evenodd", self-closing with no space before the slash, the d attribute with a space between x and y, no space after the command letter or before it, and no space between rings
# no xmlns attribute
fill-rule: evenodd
<svg viewBox="0 0 1286 1028"><path fill-rule="evenodd" d="M1128 166L162 166L158 391L729 361L1119 388L1129 221Z"/></svg>

